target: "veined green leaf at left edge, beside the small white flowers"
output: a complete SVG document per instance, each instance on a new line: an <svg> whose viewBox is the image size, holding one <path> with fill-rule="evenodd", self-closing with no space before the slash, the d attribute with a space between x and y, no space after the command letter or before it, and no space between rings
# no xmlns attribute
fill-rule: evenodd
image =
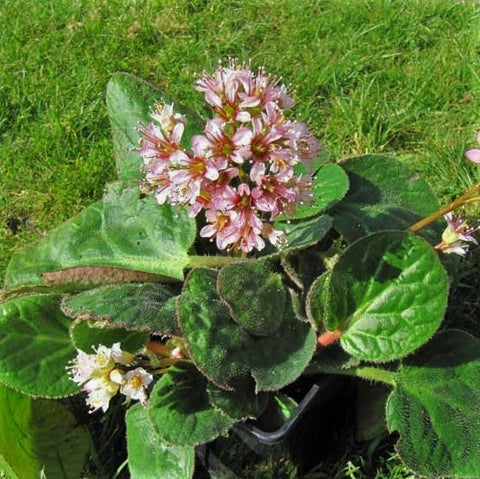
<svg viewBox="0 0 480 479"><path fill-rule="evenodd" d="M35 295L0 304L0 381L32 396L78 392L65 368L76 351L60 296Z"/></svg>

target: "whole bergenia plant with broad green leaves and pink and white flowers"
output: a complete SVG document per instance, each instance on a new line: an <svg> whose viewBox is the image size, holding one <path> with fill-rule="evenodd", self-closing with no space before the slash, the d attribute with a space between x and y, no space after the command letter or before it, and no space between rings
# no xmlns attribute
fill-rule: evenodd
<svg viewBox="0 0 480 479"><path fill-rule="evenodd" d="M480 339L443 319L444 265L476 244L459 215L480 184L441 208L393 158L327 161L264 69L230 62L195 88L205 122L114 75L118 181L14 254L0 310L4 467L101 471L95 434L114 424L130 477L191 478L203 444L281 427L301 399L292 385L347 375L366 380L363 438L398 434L416 474L479 477Z"/></svg>

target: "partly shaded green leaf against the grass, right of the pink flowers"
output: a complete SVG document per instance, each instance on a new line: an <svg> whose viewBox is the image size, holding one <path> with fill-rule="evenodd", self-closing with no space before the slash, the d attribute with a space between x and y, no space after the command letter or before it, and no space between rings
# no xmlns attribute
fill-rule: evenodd
<svg viewBox="0 0 480 479"><path fill-rule="evenodd" d="M407 229L438 209L430 187L393 158L366 155L341 165L350 189L330 214L335 228L349 242L374 231Z"/></svg>

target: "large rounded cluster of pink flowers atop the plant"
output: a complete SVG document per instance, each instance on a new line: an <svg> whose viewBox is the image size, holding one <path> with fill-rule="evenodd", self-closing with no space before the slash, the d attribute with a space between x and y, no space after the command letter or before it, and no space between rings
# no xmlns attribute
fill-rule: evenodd
<svg viewBox="0 0 480 479"><path fill-rule="evenodd" d="M311 197L311 161L320 146L308 127L285 118L294 105L284 85L231 62L196 87L214 112L191 151L180 145L185 118L173 105L157 106L153 122L140 130L146 184L158 203L186 205L191 216L205 210L200 236L217 247L244 253L280 246L285 235L273 227ZM296 175L303 163L307 173Z"/></svg>

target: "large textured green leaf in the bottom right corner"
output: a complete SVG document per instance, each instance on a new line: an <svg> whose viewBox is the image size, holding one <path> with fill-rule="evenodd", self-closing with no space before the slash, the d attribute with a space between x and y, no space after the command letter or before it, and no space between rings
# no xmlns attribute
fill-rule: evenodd
<svg viewBox="0 0 480 479"><path fill-rule="evenodd" d="M442 331L400 368L387 402L402 460L428 477L478 477L480 340Z"/></svg>

